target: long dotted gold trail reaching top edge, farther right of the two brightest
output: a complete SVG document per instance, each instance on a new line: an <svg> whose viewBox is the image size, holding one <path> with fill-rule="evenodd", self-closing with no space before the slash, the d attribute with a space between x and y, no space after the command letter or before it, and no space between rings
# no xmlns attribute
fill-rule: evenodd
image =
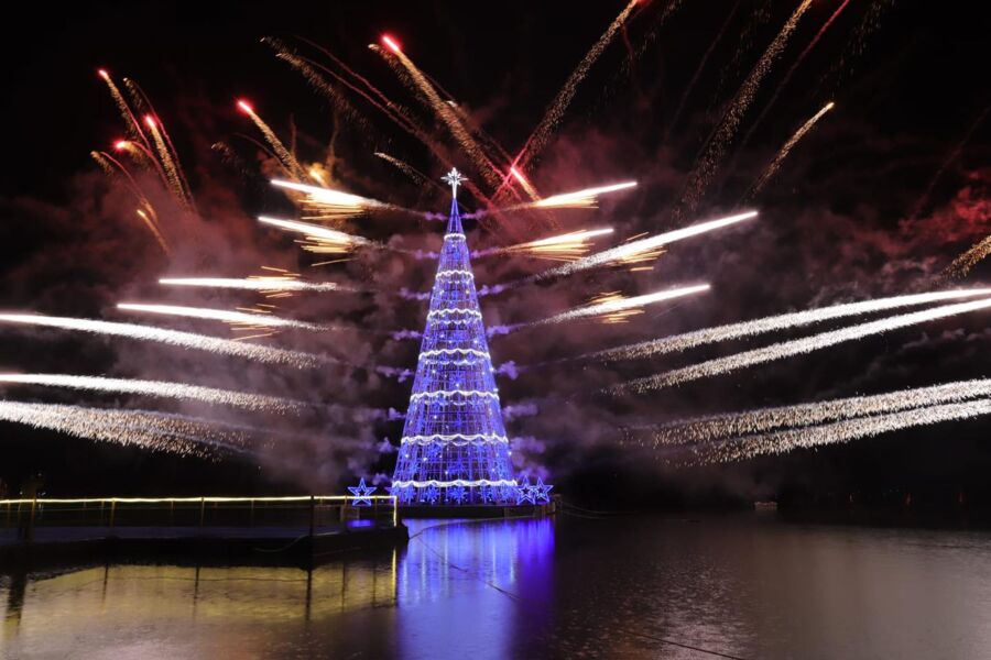
<svg viewBox="0 0 991 660"><path fill-rule="evenodd" d="M682 196L684 211L691 212L698 206L703 193L705 193L709 182L712 179L719 162L726 155L729 143L740 127L740 122L743 121L743 116L747 113L747 109L750 108L750 103L753 101L764 76L767 75L774 61L784 51L799 19L802 19L812 3L813 0L802 0L802 3L792 13L781 32L777 33L777 36L774 37L774 41L771 42L771 45L767 46L767 50L764 51L756 65L751 69L743 85L740 86L740 89L730 102L730 107L727 109L722 120L709 135Z"/></svg>

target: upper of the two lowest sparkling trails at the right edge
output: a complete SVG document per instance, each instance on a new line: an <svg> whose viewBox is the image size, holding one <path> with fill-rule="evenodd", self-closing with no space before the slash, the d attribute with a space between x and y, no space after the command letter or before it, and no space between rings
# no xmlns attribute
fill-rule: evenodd
<svg viewBox="0 0 991 660"><path fill-rule="evenodd" d="M869 415L897 413L980 397L991 397L991 380L959 381L871 396L760 408L745 413L714 415L650 427L632 427L629 430L650 432L649 442L642 442L642 444L649 443L653 447L687 444L710 442L733 436L764 433L786 427L806 427Z"/></svg>

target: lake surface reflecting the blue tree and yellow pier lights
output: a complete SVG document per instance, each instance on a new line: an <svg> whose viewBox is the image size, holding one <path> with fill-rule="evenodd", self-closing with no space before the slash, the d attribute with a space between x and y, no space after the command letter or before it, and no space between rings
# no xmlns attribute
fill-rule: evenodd
<svg viewBox="0 0 991 660"><path fill-rule="evenodd" d="M110 565L0 578L0 657L707 657L683 644L741 658L982 658L991 649L984 532L752 515L410 527L405 549L313 572Z"/></svg>

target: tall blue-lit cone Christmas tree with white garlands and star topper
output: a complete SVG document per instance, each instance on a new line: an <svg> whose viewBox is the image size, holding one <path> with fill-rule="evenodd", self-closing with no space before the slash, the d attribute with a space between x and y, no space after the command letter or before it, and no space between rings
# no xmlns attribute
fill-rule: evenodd
<svg viewBox="0 0 991 660"><path fill-rule="evenodd" d="M519 504L457 189L431 294L391 492L402 504Z"/></svg>

